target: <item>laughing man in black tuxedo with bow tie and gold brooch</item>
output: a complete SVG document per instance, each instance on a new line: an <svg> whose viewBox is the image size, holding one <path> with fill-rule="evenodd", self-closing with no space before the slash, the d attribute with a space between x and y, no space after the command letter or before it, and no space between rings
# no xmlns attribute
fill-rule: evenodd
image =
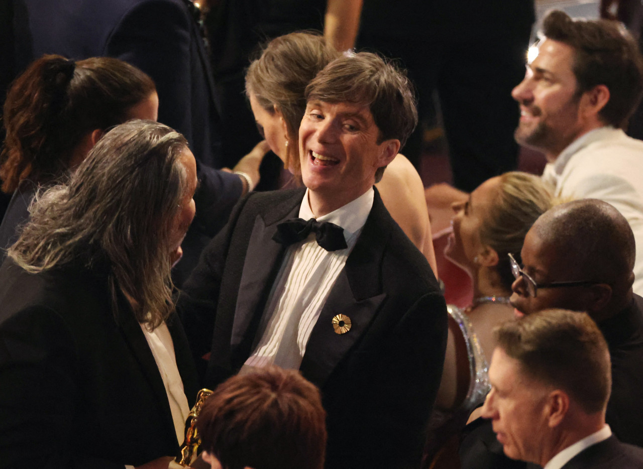
<svg viewBox="0 0 643 469"><path fill-rule="evenodd" d="M179 314L195 356L210 352L206 385L274 364L320 387L327 467L417 466L446 306L373 188L417 123L413 94L394 67L359 53L331 62L306 96L306 188L243 199Z"/></svg>

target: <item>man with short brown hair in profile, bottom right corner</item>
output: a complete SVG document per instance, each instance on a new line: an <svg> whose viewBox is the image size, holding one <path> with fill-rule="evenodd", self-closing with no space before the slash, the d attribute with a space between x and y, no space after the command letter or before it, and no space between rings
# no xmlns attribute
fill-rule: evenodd
<svg viewBox="0 0 643 469"><path fill-rule="evenodd" d="M482 416L507 456L547 469L643 467L643 449L605 423L610 354L587 314L543 310L495 333Z"/></svg>

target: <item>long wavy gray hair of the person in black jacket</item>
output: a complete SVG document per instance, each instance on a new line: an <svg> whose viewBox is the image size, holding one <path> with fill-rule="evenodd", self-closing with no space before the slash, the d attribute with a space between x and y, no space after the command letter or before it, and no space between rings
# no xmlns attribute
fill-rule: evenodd
<svg viewBox="0 0 643 469"><path fill-rule="evenodd" d="M32 273L107 263L114 315L121 290L140 323L158 326L174 308L169 238L187 190L177 160L187 146L156 122L114 127L68 183L37 197L8 256Z"/></svg>

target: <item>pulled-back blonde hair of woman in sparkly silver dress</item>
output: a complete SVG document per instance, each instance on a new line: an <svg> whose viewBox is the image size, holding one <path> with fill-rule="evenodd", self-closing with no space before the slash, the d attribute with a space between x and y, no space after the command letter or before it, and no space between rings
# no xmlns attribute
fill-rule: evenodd
<svg viewBox="0 0 643 469"><path fill-rule="evenodd" d="M514 281L507 254L520 262L527 231L552 206L554 197L538 176L518 171L500 176L493 208L480 225L480 241L498 253L503 287L511 290Z"/></svg>

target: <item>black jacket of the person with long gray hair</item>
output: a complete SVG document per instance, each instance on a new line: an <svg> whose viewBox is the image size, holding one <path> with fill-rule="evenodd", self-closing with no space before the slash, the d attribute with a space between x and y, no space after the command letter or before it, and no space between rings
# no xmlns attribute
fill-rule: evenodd
<svg viewBox="0 0 643 469"><path fill-rule="evenodd" d="M0 468L123 469L176 456L163 380L105 269L0 268ZM176 316L167 321L188 402L197 376ZM181 441L182 443L182 441Z"/></svg>

